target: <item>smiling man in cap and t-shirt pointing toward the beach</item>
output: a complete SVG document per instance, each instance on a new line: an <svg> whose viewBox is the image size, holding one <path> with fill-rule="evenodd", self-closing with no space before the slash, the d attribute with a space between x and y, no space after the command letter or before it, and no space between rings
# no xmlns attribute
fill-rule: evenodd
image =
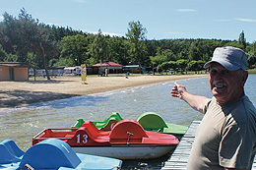
<svg viewBox="0 0 256 170"><path fill-rule="evenodd" d="M174 84L171 96L204 114L188 160L188 170L251 169L256 151L256 109L244 92L247 56L239 48L218 47L209 68L212 98Z"/></svg>

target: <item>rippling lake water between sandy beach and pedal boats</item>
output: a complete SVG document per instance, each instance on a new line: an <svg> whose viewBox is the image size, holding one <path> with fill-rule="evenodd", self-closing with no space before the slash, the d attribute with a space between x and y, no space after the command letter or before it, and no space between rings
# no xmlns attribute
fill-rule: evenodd
<svg viewBox="0 0 256 170"><path fill-rule="evenodd" d="M185 85L194 94L211 97L208 77L177 83ZM193 120L201 119L202 115L184 101L170 96L173 84L142 85L40 102L22 108L0 108L0 142L14 140L26 150L32 145L32 137L45 128L70 128L79 118L102 121L111 112L118 112L124 119L137 119L144 112L157 112L165 122L189 126ZM254 85L256 75L249 75L245 91L256 105Z"/></svg>

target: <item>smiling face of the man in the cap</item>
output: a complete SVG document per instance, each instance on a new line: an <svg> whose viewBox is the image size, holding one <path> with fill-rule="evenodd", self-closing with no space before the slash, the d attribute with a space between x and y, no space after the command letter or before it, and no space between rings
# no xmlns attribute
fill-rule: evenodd
<svg viewBox="0 0 256 170"><path fill-rule="evenodd" d="M228 71L218 63L211 64L210 87L213 95L220 103L241 97L244 94L243 85L246 78L244 78L244 73L241 70Z"/></svg>

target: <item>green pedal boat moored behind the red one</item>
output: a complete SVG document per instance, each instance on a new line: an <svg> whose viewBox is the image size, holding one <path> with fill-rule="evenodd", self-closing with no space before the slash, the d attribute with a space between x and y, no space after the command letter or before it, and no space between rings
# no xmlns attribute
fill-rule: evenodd
<svg viewBox="0 0 256 170"><path fill-rule="evenodd" d="M110 131L113 125L121 120L123 120L123 118L120 116L120 114L117 112L113 112L107 119L101 122L93 121L93 123L99 130ZM72 126L72 128L79 128L83 125L84 122L84 119L78 119L76 124ZM171 134L179 140L183 137L188 129L188 127L186 126L164 122L164 120L156 112L145 112L141 114L137 119L137 122L139 122L146 131Z"/></svg>

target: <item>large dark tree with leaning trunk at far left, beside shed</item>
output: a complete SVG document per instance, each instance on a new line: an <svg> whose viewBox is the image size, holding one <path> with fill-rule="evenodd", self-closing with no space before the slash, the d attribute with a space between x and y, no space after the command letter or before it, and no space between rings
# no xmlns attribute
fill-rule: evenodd
<svg viewBox="0 0 256 170"><path fill-rule="evenodd" d="M19 20L5 13L4 23L1 26L1 41L4 42L6 49L10 53L18 56L18 61L26 62L28 53L32 52L38 57L39 62L43 63L47 80L50 80L47 71L47 52L49 51L49 41L47 31L38 25L38 20L23 8L19 14Z"/></svg>

